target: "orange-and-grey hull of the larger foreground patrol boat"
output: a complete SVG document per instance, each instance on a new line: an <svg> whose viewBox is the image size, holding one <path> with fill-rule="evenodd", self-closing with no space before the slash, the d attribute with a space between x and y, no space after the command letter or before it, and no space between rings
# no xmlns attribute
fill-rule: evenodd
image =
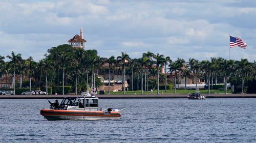
<svg viewBox="0 0 256 143"><path fill-rule="evenodd" d="M49 121L54 120L101 120L120 119L121 115L117 111L86 111L86 110L52 110L41 109L40 114Z"/></svg>

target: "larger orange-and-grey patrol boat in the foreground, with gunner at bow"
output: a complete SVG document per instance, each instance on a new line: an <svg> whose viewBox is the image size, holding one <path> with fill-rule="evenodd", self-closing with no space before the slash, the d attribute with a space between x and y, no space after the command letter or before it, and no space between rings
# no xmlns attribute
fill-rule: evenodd
<svg viewBox="0 0 256 143"><path fill-rule="evenodd" d="M58 107L41 109L40 114L47 120L100 120L120 119L124 108L99 107L98 98L89 92L82 93L81 97L65 97Z"/></svg>

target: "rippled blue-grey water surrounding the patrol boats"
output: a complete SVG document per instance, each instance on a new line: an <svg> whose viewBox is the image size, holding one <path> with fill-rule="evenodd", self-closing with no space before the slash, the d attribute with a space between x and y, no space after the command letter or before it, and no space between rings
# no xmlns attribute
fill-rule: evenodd
<svg viewBox="0 0 256 143"><path fill-rule="evenodd" d="M45 99L0 100L0 142L256 142L255 102L101 99L101 107L126 107L122 119L47 121Z"/></svg>

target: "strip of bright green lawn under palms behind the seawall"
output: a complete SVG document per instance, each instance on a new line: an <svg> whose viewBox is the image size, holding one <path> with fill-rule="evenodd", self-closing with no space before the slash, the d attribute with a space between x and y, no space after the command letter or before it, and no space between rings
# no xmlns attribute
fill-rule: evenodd
<svg viewBox="0 0 256 143"><path fill-rule="evenodd" d="M195 92L196 90L176 90L177 94L189 94ZM208 90L200 90L200 93L208 94ZM227 93L231 93L231 90L227 90ZM108 91L105 91L105 94L108 94ZM122 95L123 92L111 92L110 94ZM141 94L141 91L125 91L125 94ZM143 91L143 94L157 94L157 90L153 91L153 93L151 93L150 91ZM174 94L174 90L167 90L166 92L164 90L159 90L159 94ZM210 90L210 94L225 94L225 90Z"/></svg>

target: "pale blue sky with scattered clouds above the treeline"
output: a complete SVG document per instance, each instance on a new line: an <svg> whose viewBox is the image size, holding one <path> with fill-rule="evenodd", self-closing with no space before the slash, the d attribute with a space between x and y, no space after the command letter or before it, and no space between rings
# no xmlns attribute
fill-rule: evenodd
<svg viewBox="0 0 256 143"><path fill-rule="evenodd" d="M0 55L45 58L47 49L83 28L85 49L109 58L126 52L210 60L229 59L229 35L247 48L230 49L230 59L256 60L256 1L5 1L0 2ZM7 60L7 59L6 59Z"/></svg>

